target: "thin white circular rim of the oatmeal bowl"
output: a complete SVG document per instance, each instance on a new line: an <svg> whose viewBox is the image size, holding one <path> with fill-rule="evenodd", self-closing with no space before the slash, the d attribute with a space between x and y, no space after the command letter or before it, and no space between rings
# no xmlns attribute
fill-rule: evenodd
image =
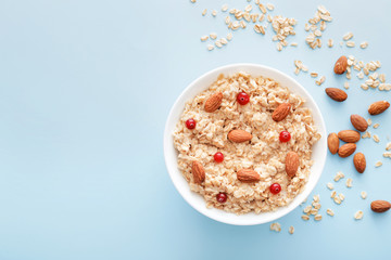
<svg viewBox="0 0 391 260"><path fill-rule="evenodd" d="M319 107L317 106L315 100L313 99L313 96L310 94L310 92L301 84L299 83L295 79L293 79L292 77L290 77L289 75L278 70L278 69L275 69L275 68L272 68L269 66L265 66L265 65L261 65L261 64L254 64L254 63L234 63L234 64L228 64L228 65L224 65L224 66L219 66L217 68L214 68L212 70L209 70L206 73L204 73L203 75L201 75L200 77L198 77L197 79L194 79L192 82L190 82L184 90L182 92L179 94L179 96L175 100L172 108L169 109L169 113L168 113L168 116L167 116L167 119L166 119L166 122L165 122L165 128L164 128L164 135L163 135L163 151L164 151L164 161L165 161L165 165L166 165L166 169L168 171L168 174L169 174L169 178L172 180L172 182L174 183L174 186L175 188L177 190L177 192L181 195L181 197L193 208L195 209L197 211L199 211L200 213L204 214L205 217L210 218L210 219L213 219L215 221L218 221L218 222L222 222L222 223L226 223L226 224L232 224L232 225L255 225L255 224L263 224L263 223L267 223L267 222L270 222L270 221L274 221L274 220L277 220L277 219L280 219L282 218L283 216L288 214L289 212L291 212L292 210L294 210L302 202L298 202L295 200L297 197L299 196L302 196L303 194L305 194L304 198L306 198L307 196L310 196L310 194L313 192L313 190L315 188L315 186L317 185L321 174L323 174L323 171L324 171L324 168L325 168L325 164L326 164L326 158L327 158L327 145L325 146L324 148L324 153L323 153L323 156L320 157L320 165L319 165L319 174L315 176L315 180L313 182L313 184L311 186L308 186L308 182L310 182L310 179L307 180L307 182L305 183L305 187L304 190L295 196L295 198L293 198L293 200L288 204L287 206L285 207L280 207L279 209L277 209L276 211L272 211L272 212L278 212L281 208L282 209L286 209L285 212L281 212L278 217L275 217L275 218L266 218L266 219L263 219L261 218L261 216L263 213L260 213L260 214L256 214L257 217L260 217L260 220L253 220L253 221L247 221L247 222L243 222L243 221L231 221L231 220L226 220L225 218L217 218L215 216L211 216L211 213L209 213L210 211L209 210L213 210L213 209L209 209L206 208L205 205L203 205L203 208L201 208L200 206L197 205L197 203L193 203L186 194L184 194L184 192L179 188L179 183L175 181L174 179L174 174L176 172L173 172L171 171L171 167L169 165L172 164L171 161L168 161L168 153L169 152L169 146L173 145L173 133L171 132L171 126L169 126L169 121L171 121L171 118L173 118L173 115L175 114L176 112L176 108L178 106L178 103L180 103L187 95L188 92L190 92L197 84L199 81L201 81L202 79L204 78L207 78L210 77L211 75L214 75L216 74L216 78L218 76L218 74L222 74L224 73L224 70L229 70L229 69L235 69L237 68L237 73L239 73L240 70L245 70L245 69L239 69L239 67L253 67L254 69L260 69L260 70L268 70L269 73L272 74L276 74L278 75L278 77L280 77L280 79L276 79L276 81L281 81L281 78L286 78L286 80L288 81L291 81L292 84L295 84L297 87L299 87L301 89L301 91L303 91L305 93L305 103L306 104L312 104L313 106L313 110L312 110L312 114L313 116L316 114L317 117L318 117L318 122L317 122L317 127L318 127L318 130L323 130L323 136L320 138L320 140L318 141L318 143L323 142L325 146L327 141L326 141L326 133L327 133L327 130L326 130L326 125L325 125L325 120L323 118L323 115L320 113L320 109ZM292 89L289 87L289 86L286 86L288 89L290 89L292 91ZM198 93L200 93L202 90L200 90ZM195 96L195 95L194 95ZM191 98L190 98L191 99ZM188 102L188 100L185 101L185 105L186 105L186 102ZM185 106L184 105L184 106ZM184 108L184 107L182 107ZM315 109L315 112L314 112ZM319 129L320 127L320 129ZM316 145L316 144L315 144ZM321 152L321 151L320 151ZM175 166L177 167L177 165ZM179 171L179 170L178 170ZM179 171L180 173L180 171ZM181 174L180 174L181 176ZM181 176L182 177L182 176ZM190 190L190 187L189 187ZM193 193L193 192L191 192ZM199 194L197 194L199 195ZM204 199L202 198L202 200L204 202ZM215 210L219 210L219 209L215 209ZM224 210L219 210L222 212L224 212L223 216L225 214L235 214L232 212L227 212L227 211L224 211ZM268 213L268 212L266 212ZM240 217L240 216L239 216Z"/></svg>

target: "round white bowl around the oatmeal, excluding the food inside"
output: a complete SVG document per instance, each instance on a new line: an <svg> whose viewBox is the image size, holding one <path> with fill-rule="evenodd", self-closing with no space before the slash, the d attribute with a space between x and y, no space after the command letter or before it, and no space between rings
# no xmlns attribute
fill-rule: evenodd
<svg viewBox="0 0 391 260"><path fill-rule="evenodd" d="M313 160L315 161L311 168L311 174L308 182L305 185L304 191L299 194L288 206L281 207L273 212L265 213L247 213L237 216L235 213L226 212L224 210L215 209L215 208L206 208L205 200L203 197L194 192L190 191L188 182L182 177L181 172L177 167L177 151L174 148L173 144L173 132L175 130L175 126L178 122L181 113L184 112L186 102L193 99L197 94L207 89L216 79L219 74L224 75L232 75L238 72L247 72L253 76L264 76L272 78L282 86L288 87L293 93L297 93L306 100L305 106L310 107L313 112L313 118L315 125L321 134L321 139L313 146ZM316 183L318 182L321 171L325 166L326 156L327 156L327 142L326 142L326 127L324 119L321 117L320 110L317 107L315 101L310 95L310 93L294 79L289 77L288 75L257 64L232 64L223 67L218 67L209 72L193 82L191 82L184 92L176 100L173 108L169 112L165 131L164 131L164 157L165 164L169 173L171 179L174 182L175 187L178 190L180 195L185 198L185 200L190 204L194 209L204 216L214 219L216 221L227 223L227 224L236 224L236 225L254 225L262 224L269 221L274 221L282 216L292 211L295 207L298 207L314 190Z"/></svg>

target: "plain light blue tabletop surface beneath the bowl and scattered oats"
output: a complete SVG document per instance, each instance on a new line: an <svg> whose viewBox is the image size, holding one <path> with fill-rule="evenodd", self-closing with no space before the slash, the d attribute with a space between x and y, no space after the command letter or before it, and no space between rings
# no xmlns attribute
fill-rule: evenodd
<svg viewBox="0 0 391 260"><path fill-rule="evenodd" d="M330 156L314 194L320 222L300 219L302 208L269 225L232 226L201 216L179 196L163 160L163 129L179 93L201 74L238 62L265 64L293 75L293 60L327 77L317 87L310 75L295 77L318 103L329 131L351 128L352 113L367 115L390 93L360 89L353 76L346 102L329 100L325 87L342 87L332 74L341 54L380 60L391 77L391 2L273 1L273 14L299 20L299 48L277 52L266 36L236 31L220 50L207 52L202 35L227 34L223 3L243 9L244 0L3 0L0 8L0 259L375 259L390 257L391 212L375 214L373 199L391 200L391 160L382 158L390 136L390 110L374 117L380 136L358 143L367 170L352 158ZM326 4L335 21L324 41L304 46L304 23ZM201 12L207 8L207 17ZM212 9L218 10L213 18ZM340 48L346 31L367 50ZM375 169L376 160L383 166ZM336 183L345 194L337 206L327 182L337 171L353 178ZM368 198L360 197L361 191ZM325 210L332 208L333 218ZM362 209L364 219L353 214ZM288 234L293 225L295 233ZM375 250L376 249L376 250ZM330 258L331 257L331 258ZM345 258L348 259L348 258ZM380 258L387 259L387 258Z"/></svg>

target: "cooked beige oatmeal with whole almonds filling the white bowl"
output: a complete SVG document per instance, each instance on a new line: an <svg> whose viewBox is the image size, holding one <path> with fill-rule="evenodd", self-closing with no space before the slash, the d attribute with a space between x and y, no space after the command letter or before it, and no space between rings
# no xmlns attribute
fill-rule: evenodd
<svg viewBox="0 0 391 260"><path fill-rule="evenodd" d="M240 93L250 98L248 103L240 102ZM320 139L304 102L269 78L220 75L186 104L174 132L178 168L191 191L204 197L206 207L237 214L291 203L304 190L312 146ZM276 110L285 114L282 119ZM192 129L189 119L195 121ZM282 131L290 133L289 141L280 140ZM220 162L214 159L218 152ZM275 183L277 194L270 188Z"/></svg>

